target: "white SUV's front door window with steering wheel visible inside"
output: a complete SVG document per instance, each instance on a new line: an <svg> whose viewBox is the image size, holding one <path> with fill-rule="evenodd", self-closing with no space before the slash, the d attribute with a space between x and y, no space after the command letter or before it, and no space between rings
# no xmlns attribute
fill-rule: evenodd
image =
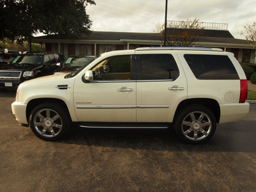
<svg viewBox="0 0 256 192"><path fill-rule="evenodd" d="M131 56L113 56L92 68L95 80L131 80Z"/></svg>

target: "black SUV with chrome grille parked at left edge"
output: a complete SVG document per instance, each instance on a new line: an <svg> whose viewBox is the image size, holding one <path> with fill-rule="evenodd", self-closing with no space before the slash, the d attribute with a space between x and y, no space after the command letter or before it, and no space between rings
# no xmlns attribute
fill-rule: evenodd
<svg viewBox="0 0 256 192"><path fill-rule="evenodd" d="M0 67L0 87L17 87L20 83L36 77L53 74L58 67L58 54L22 54L12 63Z"/></svg>

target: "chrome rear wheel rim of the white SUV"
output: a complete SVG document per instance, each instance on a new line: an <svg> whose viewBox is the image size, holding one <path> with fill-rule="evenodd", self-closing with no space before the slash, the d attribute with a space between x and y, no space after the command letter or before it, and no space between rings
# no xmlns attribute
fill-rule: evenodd
<svg viewBox="0 0 256 192"><path fill-rule="evenodd" d="M204 140L212 130L211 118L202 111L189 113L181 124L182 133L191 141Z"/></svg>

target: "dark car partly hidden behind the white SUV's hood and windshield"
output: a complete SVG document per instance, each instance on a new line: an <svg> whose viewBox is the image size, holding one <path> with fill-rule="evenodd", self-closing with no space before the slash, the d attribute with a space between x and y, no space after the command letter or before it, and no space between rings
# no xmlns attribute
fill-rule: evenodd
<svg viewBox="0 0 256 192"><path fill-rule="evenodd" d="M54 70L54 74L64 74L74 72L84 65L88 65L95 59L95 56L70 56L65 60L62 65L56 70Z"/></svg>

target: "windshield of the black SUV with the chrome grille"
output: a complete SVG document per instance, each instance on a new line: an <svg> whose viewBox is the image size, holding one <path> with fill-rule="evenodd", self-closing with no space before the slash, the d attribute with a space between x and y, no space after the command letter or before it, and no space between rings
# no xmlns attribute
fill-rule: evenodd
<svg viewBox="0 0 256 192"><path fill-rule="evenodd" d="M44 56L42 55L25 55L17 56L12 63L15 64L32 64L32 65L42 65Z"/></svg>

